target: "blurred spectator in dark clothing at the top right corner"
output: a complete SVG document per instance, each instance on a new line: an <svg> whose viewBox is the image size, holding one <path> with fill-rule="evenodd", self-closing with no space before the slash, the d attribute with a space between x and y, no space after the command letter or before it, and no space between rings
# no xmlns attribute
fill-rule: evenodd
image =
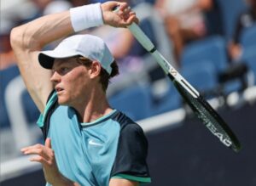
<svg viewBox="0 0 256 186"><path fill-rule="evenodd" d="M256 23L256 0L246 1L249 5L249 8L247 8L245 12L240 14L236 24L236 31L229 45L230 57L232 60L239 60L241 57L241 31L250 26L253 26L253 24Z"/></svg>

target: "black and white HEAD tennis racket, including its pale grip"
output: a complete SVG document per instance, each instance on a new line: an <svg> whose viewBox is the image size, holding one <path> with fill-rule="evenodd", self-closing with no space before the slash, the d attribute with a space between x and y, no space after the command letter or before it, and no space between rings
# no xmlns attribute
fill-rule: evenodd
<svg viewBox="0 0 256 186"><path fill-rule="evenodd" d="M192 87L189 82L187 82L185 78L183 78L183 76L173 68L164 56L160 54L160 52L155 48L153 42L149 40L136 23L132 23L127 27L133 36L137 38L137 41L142 44L143 48L154 56L154 59L171 79L184 101L189 105L191 110L194 111L195 116L202 121L209 131L222 142L222 144L233 149L235 152L238 152L241 149L241 144L221 116L219 116L212 106L203 99L195 87Z"/></svg>

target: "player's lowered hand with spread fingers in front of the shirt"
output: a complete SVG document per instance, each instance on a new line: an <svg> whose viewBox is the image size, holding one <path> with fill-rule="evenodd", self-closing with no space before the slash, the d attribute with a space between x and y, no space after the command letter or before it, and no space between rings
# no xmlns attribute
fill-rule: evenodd
<svg viewBox="0 0 256 186"><path fill-rule="evenodd" d="M57 167L55 161L54 150L51 149L50 139L45 140L45 145L35 144L23 149L20 149L24 155L37 155L33 156L30 161L38 161L43 165L45 180L54 185L58 178L61 178L61 172Z"/></svg>

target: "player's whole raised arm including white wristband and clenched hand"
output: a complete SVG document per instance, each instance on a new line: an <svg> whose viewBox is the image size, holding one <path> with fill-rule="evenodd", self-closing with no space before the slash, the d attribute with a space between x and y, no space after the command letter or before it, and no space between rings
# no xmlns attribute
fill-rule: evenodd
<svg viewBox="0 0 256 186"><path fill-rule="evenodd" d="M20 25L11 31L11 44L15 51L21 76L41 112L44 111L49 93L54 88L49 81L51 70L45 70L38 63L38 54L45 45L61 37L67 37L75 31L101 25L101 22L116 27L125 27L130 25L132 21L137 21L135 13L127 8L126 3L107 2L93 6L94 8L80 7L79 10L77 8L75 14L72 15L73 17L70 11L46 15L25 25ZM100 8L98 14L95 14L96 6L100 6L98 7ZM118 14L112 11L116 6L120 7ZM84 12L82 12L83 10ZM88 18L88 15L90 15L89 18L98 17L95 25L92 22L86 26L86 19L83 19L83 16Z"/></svg>

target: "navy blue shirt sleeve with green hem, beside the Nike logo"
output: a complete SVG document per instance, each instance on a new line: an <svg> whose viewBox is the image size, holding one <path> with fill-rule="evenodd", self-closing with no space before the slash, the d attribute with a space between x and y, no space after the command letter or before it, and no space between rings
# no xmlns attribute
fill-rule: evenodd
<svg viewBox="0 0 256 186"><path fill-rule="evenodd" d="M148 141L143 129L136 123L124 125L120 131L111 178L126 178L140 183L150 183L147 155Z"/></svg>

